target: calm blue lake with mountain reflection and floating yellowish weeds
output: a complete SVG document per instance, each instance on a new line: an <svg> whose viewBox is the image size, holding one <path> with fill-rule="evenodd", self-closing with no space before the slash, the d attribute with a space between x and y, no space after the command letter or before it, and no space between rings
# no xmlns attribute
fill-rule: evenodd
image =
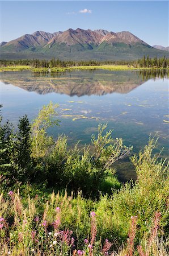
<svg viewBox="0 0 169 256"><path fill-rule="evenodd" d="M41 106L58 103L60 126L69 144L89 143L99 123L108 123L113 137L121 137L138 152L149 139L159 137L162 156L168 155L168 74L163 71L71 71L64 73L2 72L0 92L3 122L17 127L24 114L32 120ZM120 180L136 179L128 159L118 164Z"/></svg>

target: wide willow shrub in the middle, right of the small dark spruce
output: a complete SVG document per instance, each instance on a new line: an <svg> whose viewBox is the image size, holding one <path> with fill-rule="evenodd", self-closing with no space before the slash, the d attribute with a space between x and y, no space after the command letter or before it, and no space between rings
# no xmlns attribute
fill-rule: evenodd
<svg viewBox="0 0 169 256"><path fill-rule="evenodd" d="M47 135L49 126L58 125L56 107L50 102L32 123L32 156L36 163L34 181L45 181L53 188L82 190L85 196L98 196L99 190L106 193L111 192L111 188L119 188L112 165L128 156L132 147L126 147L121 138L113 139L112 130L105 132L107 125L100 124L90 145L80 149L76 144L68 149L65 136L54 141Z"/></svg>

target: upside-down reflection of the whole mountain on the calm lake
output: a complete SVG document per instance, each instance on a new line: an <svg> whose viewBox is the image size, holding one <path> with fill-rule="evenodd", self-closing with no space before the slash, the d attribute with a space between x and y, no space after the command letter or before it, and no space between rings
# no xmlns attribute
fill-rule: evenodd
<svg viewBox="0 0 169 256"><path fill-rule="evenodd" d="M58 93L81 97L93 94L102 96L108 93L129 93L152 78L152 74L147 77L142 72L102 72L71 72L58 77L52 77L50 74L37 76L24 72L12 73L12 75L4 73L1 76L1 81L5 84L18 86L28 92L38 94Z"/></svg>

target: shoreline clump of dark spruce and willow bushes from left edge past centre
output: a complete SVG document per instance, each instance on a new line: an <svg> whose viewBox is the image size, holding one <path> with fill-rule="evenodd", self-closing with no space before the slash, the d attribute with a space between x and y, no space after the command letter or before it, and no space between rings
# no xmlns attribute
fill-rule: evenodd
<svg viewBox="0 0 169 256"><path fill-rule="evenodd" d="M86 196L98 196L99 191L111 193L120 187L113 170L113 163L130 154L122 139L112 139L107 125L99 125L98 136L92 135L91 145L82 150L75 145L67 149L67 138L54 141L47 129L58 125L56 108L43 106L39 115L29 124L25 115L19 119L18 131L7 122L1 125L1 175L9 185L30 183L46 184L47 188L65 189Z"/></svg>

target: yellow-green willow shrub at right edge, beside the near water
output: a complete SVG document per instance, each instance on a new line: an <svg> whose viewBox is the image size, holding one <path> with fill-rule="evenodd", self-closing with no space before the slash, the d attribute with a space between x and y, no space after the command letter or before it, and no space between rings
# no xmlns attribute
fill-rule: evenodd
<svg viewBox="0 0 169 256"><path fill-rule="evenodd" d="M150 138L144 150L131 158L137 172L136 183L125 184L113 195L113 215L118 226L126 233L129 218L137 216L140 237L143 232L149 232L155 212L162 214L162 226L166 232L169 224L168 163L159 159L159 155L153 155L155 146L156 141Z"/></svg>

